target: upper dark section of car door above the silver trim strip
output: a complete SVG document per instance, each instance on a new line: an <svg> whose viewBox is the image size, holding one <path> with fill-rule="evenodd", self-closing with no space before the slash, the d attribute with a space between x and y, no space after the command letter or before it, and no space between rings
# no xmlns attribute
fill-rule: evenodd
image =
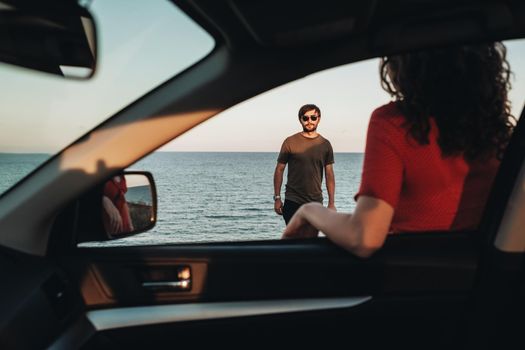
<svg viewBox="0 0 525 350"><path fill-rule="evenodd" d="M391 236L372 259L359 259L326 239L83 248L73 259L77 269L85 271L83 283L91 280L106 295L107 300L88 302L97 307L462 292L473 283L476 247L475 233L462 232ZM151 291L142 286L167 281L184 266L191 269L191 290Z"/></svg>

